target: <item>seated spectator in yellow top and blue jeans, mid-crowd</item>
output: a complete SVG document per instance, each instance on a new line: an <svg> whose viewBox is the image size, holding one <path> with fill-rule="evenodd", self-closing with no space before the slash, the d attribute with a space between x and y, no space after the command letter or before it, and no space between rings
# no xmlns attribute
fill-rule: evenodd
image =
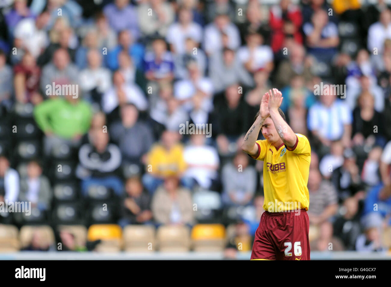
<svg viewBox="0 0 391 287"><path fill-rule="evenodd" d="M154 144L147 153L146 173L142 181L150 193L154 193L168 176L180 178L187 168L183 145L178 140L178 133L165 130L161 135L161 143Z"/></svg>

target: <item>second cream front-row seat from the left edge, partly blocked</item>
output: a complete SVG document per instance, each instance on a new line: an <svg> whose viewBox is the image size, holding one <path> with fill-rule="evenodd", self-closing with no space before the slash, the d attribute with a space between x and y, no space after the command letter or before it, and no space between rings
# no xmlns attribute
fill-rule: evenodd
<svg viewBox="0 0 391 287"><path fill-rule="evenodd" d="M55 243L54 232L48 225L24 225L20 228L19 239L22 248L29 246L35 232L39 234L39 243L46 247Z"/></svg>

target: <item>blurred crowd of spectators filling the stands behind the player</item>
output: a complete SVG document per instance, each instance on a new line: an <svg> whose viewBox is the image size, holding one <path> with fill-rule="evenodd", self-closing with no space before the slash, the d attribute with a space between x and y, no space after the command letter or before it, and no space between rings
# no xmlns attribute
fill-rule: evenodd
<svg viewBox="0 0 391 287"><path fill-rule="evenodd" d="M222 223L251 250L263 162L239 145L276 87L311 144L311 250L390 248L391 7L262 2L2 1L0 201L32 214L0 223Z"/></svg>

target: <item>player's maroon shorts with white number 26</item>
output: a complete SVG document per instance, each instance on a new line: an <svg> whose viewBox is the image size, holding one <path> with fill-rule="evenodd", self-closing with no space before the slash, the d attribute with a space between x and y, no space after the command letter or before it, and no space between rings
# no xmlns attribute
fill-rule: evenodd
<svg viewBox="0 0 391 287"><path fill-rule="evenodd" d="M305 209L265 211L255 232L251 260L310 260L309 226Z"/></svg>

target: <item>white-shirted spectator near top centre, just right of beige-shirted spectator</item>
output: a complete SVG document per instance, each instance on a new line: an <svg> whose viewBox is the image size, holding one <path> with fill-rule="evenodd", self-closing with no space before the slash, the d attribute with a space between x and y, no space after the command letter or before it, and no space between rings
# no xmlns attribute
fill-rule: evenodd
<svg viewBox="0 0 391 287"><path fill-rule="evenodd" d="M190 9L185 7L179 9L178 18L179 21L169 27L166 37L174 54L185 52L185 41L187 38L190 37L199 43L203 36L202 27L193 21L193 14Z"/></svg>

